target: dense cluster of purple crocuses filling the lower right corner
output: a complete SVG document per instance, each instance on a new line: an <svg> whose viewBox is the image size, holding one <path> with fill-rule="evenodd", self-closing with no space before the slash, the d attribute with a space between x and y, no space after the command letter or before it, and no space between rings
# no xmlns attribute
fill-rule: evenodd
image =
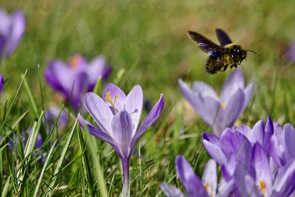
<svg viewBox="0 0 295 197"><path fill-rule="evenodd" d="M294 139L291 124L285 125L283 133L270 117L266 125L263 120L253 129L240 125L226 129L221 137L203 133L204 146L222 166L224 179L235 180L231 191L236 196L289 196L294 192Z"/></svg>

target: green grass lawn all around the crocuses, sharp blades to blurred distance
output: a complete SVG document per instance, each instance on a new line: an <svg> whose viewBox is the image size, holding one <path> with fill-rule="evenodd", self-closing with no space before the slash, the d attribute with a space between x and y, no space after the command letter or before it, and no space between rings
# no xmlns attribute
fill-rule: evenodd
<svg viewBox="0 0 295 197"><path fill-rule="evenodd" d="M247 49L260 55L248 53L247 62L241 65L246 81L255 81L253 98L240 117L243 123L253 127L270 115L281 125L289 122L295 125L295 66L285 55L295 38L295 1L242 1L247 5L244 11L241 4L236 7L238 1L233 11L229 3L226 11L222 11L218 1L216 11L201 6L200 2L207 1L145 1L146 11L140 10L139 2L135 3L134 11L130 2L127 11L121 10L124 7L118 7L118 11L115 7L111 11L102 7L102 3L109 5L110 1L48 2L51 6L48 11L42 10L40 4L36 10L31 5L25 11L27 30L22 43L29 42L30 47L21 45L0 67L5 79L0 98L0 136L6 139L0 142L2 196L80 197L121 193L118 155L107 143L80 130L76 125L77 113L65 106L71 113L67 128L55 127L48 135L40 121L43 110L63 105L61 96L46 86L42 72L51 59L67 61L73 53L81 53L89 61L97 55L106 56L114 67L108 82L117 82L125 93L134 84L140 84L144 98L152 104L164 94L161 116L137 142L136 155L131 157L133 197L164 196L159 189L163 181L181 188L175 175L177 154L183 155L199 176L209 159L203 150L202 132L210 129L200 125L198 115L187 107L177 80L214 84L225 80L229 73L208 75L204 71L208 56L187 37L188 30L216 40L215 29L224 29L233 40L246 43ZM59 5L58 11L55 3ZM5 9L12 11L10 7ZM102 45L116 41L118 50L109 44ZM125 50L126 42L129 47ZM38 43L50 43L50 47L42 48ZM146 50L144 43L148 43ZM118 76L122 69L124 74ZM29 89L25 88L28 84ZM105 85L103 81L102 90ZM143 112L142 119L146 115ZM6 145L13 133L20 134L29 127L34 129L26 147ZM33 150L38 132L46 138L40 148L46 164L37 154L32 156L40 151Z"/></svg>

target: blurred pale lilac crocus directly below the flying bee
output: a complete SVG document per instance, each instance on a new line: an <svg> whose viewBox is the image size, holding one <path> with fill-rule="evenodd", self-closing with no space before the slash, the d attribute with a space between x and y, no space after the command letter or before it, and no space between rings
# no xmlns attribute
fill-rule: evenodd
<svg viewBox="0 0 295 197"><path fill-rule="evenodd" d="M192 89L181 79L178 80L178 85L183 97L217 136L221 136L225 128L234 126L253 93L253 83L245 86L240 69L232 72L227 78L221 87L220 98L204 81L195 81Z"/></svg>

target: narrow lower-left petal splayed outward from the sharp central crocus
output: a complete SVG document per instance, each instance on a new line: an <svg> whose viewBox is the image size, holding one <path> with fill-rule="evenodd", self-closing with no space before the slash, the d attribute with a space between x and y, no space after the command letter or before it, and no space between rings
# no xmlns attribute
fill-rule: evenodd
<svg viewBox="0 0 295 197"><path fill-rule="evenodd" d="M92 124L90 124L89 122L84 120L84 118L82 118L82 116L80 114L78 114L78 122L83 129L87 125L88 131L90 132L91 135L93 135L105 142L108 142L109 144L114 143L114 140L112 139L112 137L110 135L108 135L107 133L105 133L101 129L93 126Z"/></svg>

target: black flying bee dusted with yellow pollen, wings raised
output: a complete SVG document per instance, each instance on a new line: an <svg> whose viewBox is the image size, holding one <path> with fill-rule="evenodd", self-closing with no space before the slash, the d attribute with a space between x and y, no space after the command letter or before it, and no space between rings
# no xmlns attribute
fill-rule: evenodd
<svg viewBox="0 0 295 197"><path fill-rule="evenodd" d="M214 44L200 33L189 31L187 35L191 40L196 42L202 51L210 55L205 66L205 70L208 73L223 72L228 66L230 66L231 72L233 67L236 68L246 59L247 51L250 50L246 50L241 45L233 43L225 31L216 29L215 32L221 46ZM254 51L251 52L255 53Z"/></svg>

